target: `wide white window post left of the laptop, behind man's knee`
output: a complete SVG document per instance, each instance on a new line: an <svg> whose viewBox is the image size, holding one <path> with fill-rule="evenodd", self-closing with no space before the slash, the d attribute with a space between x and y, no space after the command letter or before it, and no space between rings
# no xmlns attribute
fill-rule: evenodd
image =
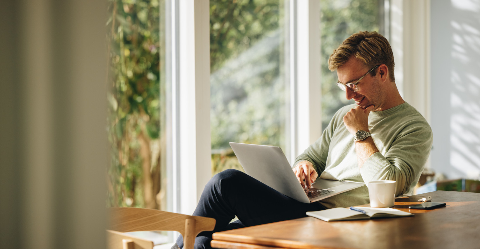
<svg viewBox="0 0 480 249"><path fill-rule="evenodd" d="M179 2L180 212L191 214L211 177L208 0Z"/></svg>

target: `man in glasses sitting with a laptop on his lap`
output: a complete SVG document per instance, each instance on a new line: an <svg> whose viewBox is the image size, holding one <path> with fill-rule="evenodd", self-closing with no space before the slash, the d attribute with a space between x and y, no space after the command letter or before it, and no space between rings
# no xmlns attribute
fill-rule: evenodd
<svg viewBox="0 0 480 249"><path fill-rule="evenodd" d="M432 147L432 129L400 96L388 41L376 32L348 37L330 56L341 89L355 104L341 108L293 171L303 187L321 178L365 182L395 180L396 196L411 194ZM305 212L369 203L359 187L314 203L300 203L236 170L216 174L193 215L213 217L213 232L305 217ZM239 218L229 223L235 216ZM195 239L210 248L213 232ZM183 246L181 236L177 240ZM174 245L173 248L178 248Z"/></svg>

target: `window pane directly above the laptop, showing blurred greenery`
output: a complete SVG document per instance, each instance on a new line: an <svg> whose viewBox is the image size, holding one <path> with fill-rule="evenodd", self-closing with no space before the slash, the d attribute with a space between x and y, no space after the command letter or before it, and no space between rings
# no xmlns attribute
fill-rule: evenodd
<svg viewBox="0 0 480 249"><path fill-rule="evenodd" d="M210 0L212 174L241 170L228 142L288 147L285 2Z"/></svg>

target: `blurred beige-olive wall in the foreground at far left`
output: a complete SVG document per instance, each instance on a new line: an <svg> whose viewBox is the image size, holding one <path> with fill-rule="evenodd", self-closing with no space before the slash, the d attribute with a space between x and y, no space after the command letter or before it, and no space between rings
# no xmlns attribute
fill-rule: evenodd
<svg viewBox="0 0 480 249"><path fill-rule="evenodd" d="M0 6L0 247L105 248L106 1Z"/></svg>

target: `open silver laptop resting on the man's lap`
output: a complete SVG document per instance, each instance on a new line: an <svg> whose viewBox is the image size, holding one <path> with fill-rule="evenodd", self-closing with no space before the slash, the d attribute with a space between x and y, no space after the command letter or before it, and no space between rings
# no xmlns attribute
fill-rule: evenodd
<svg viewBox="0 0 480 249"><path fill-rule="evenodd" d="M245 173L300 202L318 201L364 185L317 178L312 188L303 188L280 147L240 143L230 146Z"/></svg>

